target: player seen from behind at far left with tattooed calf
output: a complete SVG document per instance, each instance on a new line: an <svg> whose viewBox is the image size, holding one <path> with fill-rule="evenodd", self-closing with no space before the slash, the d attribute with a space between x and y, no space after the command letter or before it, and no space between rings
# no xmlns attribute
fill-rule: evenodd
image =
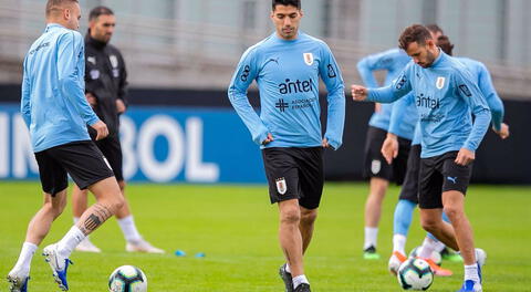
<svg viewBox="0 0 531 292"><path fill-rule="evenodd" d="M103 154L91 140L108 134L84 94L84 45L76 31L81 18L76 0L48 0L46 29L31 45L24 60L22 117L30 129L39 165L44 205L28 227L25 241L14 268L8 274L10 291L27 291L33 253L66 205L67 175L96 197L79 222L43 255L62 290L69 290L66 271L72 250L123 205L123 196Z"/></svg>

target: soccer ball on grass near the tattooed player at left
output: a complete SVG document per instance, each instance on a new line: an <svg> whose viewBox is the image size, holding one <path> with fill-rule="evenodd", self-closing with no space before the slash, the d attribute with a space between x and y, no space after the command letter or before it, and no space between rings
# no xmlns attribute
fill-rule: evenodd
<svg viewBox="0 0 531 292"><path fill-rule="evenodd" d="M134 265L122 265L108 278L110 292L146 292L147 278Z"/></svg>

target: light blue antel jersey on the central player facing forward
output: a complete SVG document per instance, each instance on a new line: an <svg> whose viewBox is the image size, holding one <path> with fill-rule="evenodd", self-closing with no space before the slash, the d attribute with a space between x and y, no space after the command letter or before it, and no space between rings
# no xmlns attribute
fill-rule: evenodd
<svg viewBox="0 0 531 292"><path fill-rule="evenodd" d="M329 91L327 125L324 137L337 149L345 119L345 92L340 67L329 46L299 32L295 40L277 33L249 48L230 83L232 106L261 144L268 133L274 140L264 147L316 147L322 145L319 77ZM260 116L249 104L247 90L257 81Z"/></svg>

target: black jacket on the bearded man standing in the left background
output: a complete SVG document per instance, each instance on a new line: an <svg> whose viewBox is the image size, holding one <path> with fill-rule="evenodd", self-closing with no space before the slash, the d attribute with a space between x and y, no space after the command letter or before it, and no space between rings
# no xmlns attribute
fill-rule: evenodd
<svg viewBox="0 0 531 292"><path fill-rule="evenodd" d="M85 36L85 92L97 98L96 115L107 124L110 135L117 135L119 117L116 100L127 105L127 72L118 49Z"/></svg>

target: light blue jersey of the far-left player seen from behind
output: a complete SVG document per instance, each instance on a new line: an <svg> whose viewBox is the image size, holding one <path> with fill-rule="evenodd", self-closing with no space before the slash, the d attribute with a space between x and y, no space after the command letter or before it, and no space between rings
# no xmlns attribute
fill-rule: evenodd
<svg viewBox="0 0 531 292"><path fill-rule="evenodd" d="M21 113L33 152L90 140L86 125L100 119L85 98L83 36L49 24L24 60Z"/></svg>

